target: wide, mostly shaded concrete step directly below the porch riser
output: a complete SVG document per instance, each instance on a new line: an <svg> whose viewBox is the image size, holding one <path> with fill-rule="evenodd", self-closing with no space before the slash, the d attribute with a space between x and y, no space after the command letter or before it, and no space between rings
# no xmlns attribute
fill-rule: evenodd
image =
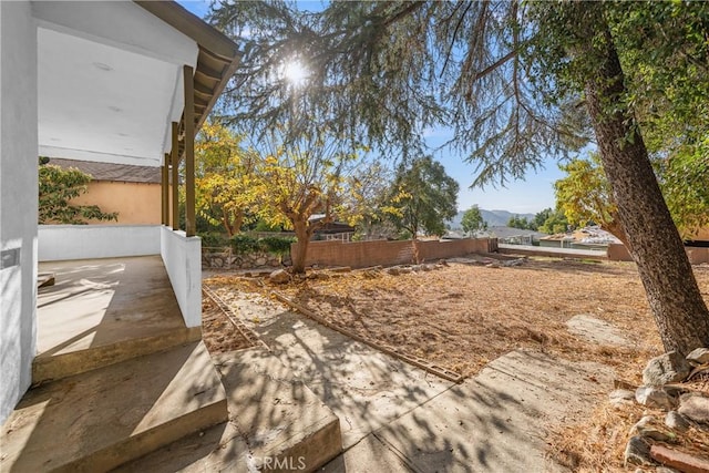
<svg viewBox="0 0 709 473"><path fill-rule="evenodd" d="M0 434L3 472L101 472L225 422L203 342L28 391Z"/></svg>

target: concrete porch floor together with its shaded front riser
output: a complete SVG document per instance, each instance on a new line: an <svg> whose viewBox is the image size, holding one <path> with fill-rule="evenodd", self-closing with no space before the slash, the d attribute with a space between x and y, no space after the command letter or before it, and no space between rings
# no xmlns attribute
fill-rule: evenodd
<svg viewBox="0 0 709 473"><path fill-rule="evenodd" d="M40 263L55 284L38 289L33 381L85 372L195 341L160 256Z"/></svg>

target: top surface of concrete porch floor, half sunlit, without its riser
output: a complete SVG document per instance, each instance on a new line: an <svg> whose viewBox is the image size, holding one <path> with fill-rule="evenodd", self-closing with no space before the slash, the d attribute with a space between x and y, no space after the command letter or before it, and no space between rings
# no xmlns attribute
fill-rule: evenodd
<svg viewBox="0 0 709 473"><path fill-rule="evenodd" d="M65 353L185 329L160 256L42 263L38 351Z"/></svg>

